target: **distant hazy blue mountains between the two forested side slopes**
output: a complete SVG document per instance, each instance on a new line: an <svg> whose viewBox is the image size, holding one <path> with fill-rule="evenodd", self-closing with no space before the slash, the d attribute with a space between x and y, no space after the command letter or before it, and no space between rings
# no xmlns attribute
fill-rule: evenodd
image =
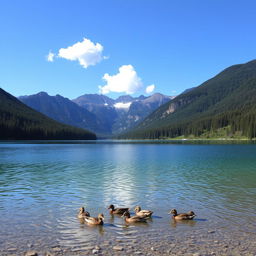
<svg viewBox="0 0 256 256"><path fill-rule="evenodd" d="M173 97L155 93L152 96L130 95L111 99L105 95L85 94L74 100L46 92L21 96L29 107L64 124L88 129L99 136L127 131Z"/></svg>

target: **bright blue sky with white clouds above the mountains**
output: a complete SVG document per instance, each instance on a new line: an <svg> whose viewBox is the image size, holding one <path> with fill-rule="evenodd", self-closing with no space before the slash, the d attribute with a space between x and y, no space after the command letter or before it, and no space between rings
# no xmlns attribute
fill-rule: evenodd
<svg viewBox="0 0 256 256"><path fill-rule="evenodd" d="M255 17L255 0L0 0L0 87L177 95L255 59Z"/></svg>

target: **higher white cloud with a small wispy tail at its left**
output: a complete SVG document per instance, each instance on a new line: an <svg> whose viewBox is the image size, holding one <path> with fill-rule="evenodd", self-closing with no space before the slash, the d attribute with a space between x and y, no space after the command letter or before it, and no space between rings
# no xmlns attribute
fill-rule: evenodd
<svg viewBox="0 0 256 256"><path fill-rule="evenodd" d="M47 60L53 62L55 58L63 58L78 61L83 68L88 68L106 58L102 55L102 52L103 46L101 44L93 43L90 39L83 38L81 42L59 49L58 54L50 51Z"/></svg>

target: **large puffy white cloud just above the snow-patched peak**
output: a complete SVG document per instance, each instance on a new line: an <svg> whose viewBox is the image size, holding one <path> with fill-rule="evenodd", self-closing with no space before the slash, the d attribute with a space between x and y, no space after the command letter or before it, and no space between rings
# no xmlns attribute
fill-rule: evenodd
<svg viewBox="0 0 256 256"><path fill-rule="evenodd" d="M100 93L102 94L110 92L133 94L142 87L142 81L132 65L121 66L119 73L113 76L106 73L103 76L103 80L105 80L107 84L99 86Z"/></svg>

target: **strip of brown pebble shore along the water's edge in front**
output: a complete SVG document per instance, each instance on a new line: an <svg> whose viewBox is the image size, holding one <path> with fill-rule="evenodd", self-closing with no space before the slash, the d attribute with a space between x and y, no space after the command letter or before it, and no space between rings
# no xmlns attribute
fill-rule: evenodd
<svg viewBox="0 0 256 256"><path fill-rule="evenodd" d="M6 248L0 251L3 256L62 256L62 255L185 255L185 256L256 256L256 240L252 239L218 239L219 234L209 230L206 234L174 237L164 236L158 240L150 239L117 239L102 240L94 245L81 247L52 246L44 248L40 245L28 245L29 248L20 251L19 248ZM3 248L2 248L3 249Z"/></svg>

